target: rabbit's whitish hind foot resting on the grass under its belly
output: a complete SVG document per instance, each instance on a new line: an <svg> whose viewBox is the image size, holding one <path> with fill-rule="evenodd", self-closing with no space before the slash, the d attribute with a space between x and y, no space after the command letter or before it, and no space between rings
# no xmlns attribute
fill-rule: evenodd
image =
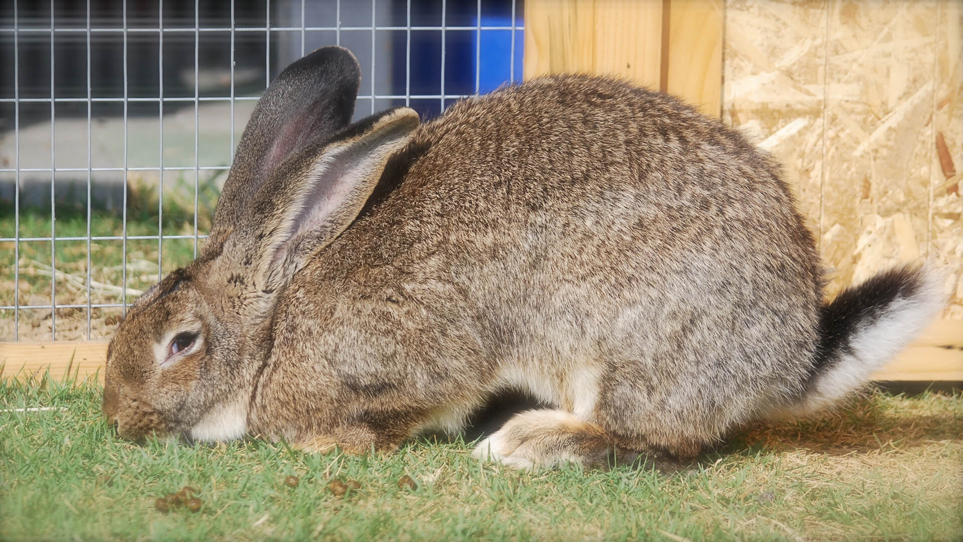
<svg viewBox="0 0 963 542"><path fill-rule="evenodd" d="M607 468L612 440L601 426L563 410L530 410L515 415L479 443L472 455L517 469L575 463Z"/></svg>

